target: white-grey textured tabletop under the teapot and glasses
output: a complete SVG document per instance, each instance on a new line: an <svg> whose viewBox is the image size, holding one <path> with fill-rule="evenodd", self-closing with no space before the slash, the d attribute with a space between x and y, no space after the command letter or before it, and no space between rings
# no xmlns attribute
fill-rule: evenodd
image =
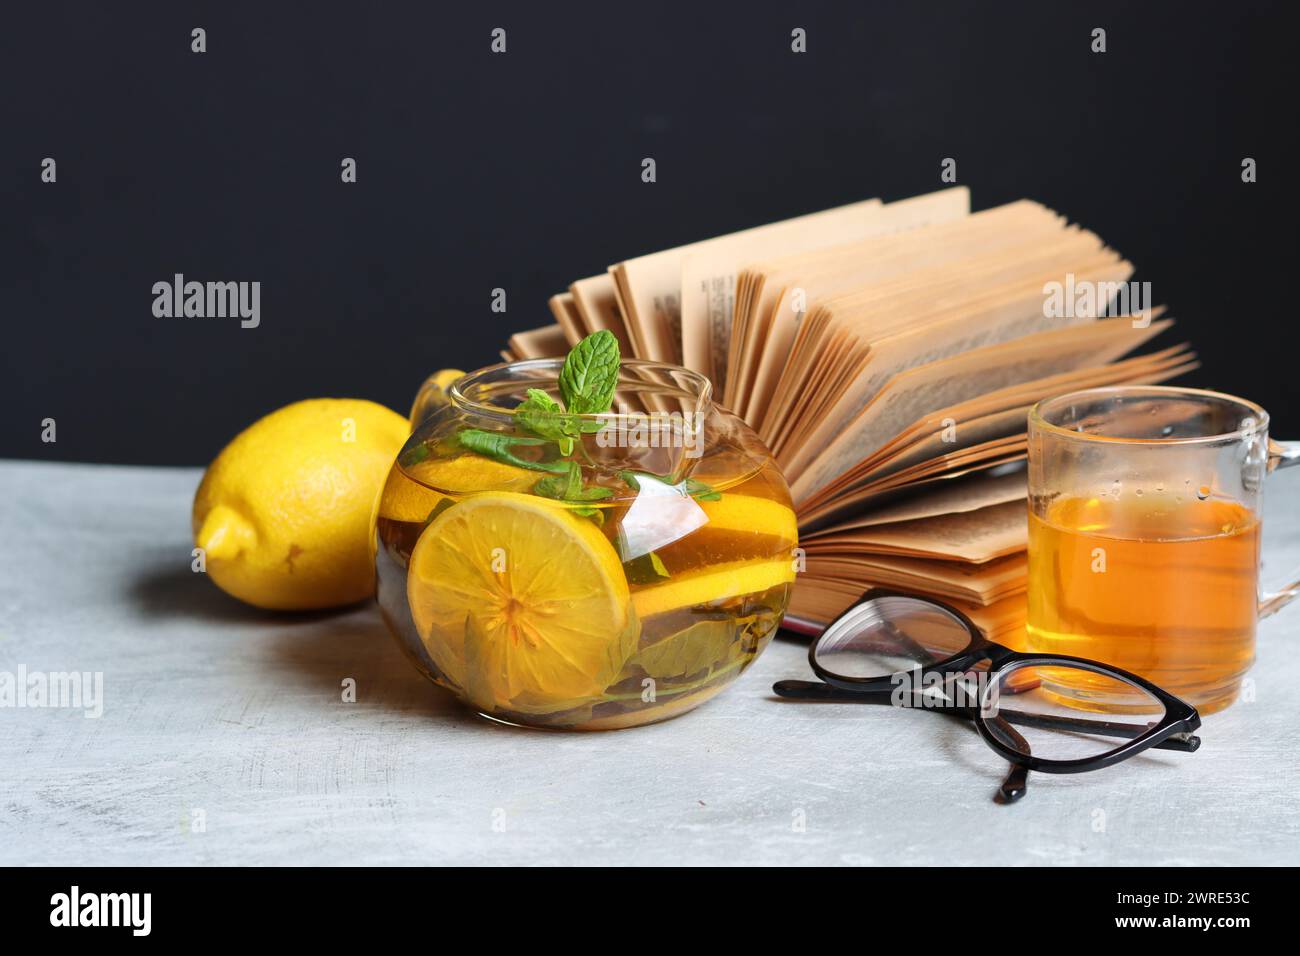
<svg viewBox="0 0 1300 956"><path fill-rule="evenodd" d="M1006 765L956 721L775 700L807 676L793 641L663 724L488 723L373 606L270 615L192 574L198 479L0 463L0 671L104 675L98 719L0 709L0 864L1300 862L1297 607L1199 753L998 806Z"/></svg>

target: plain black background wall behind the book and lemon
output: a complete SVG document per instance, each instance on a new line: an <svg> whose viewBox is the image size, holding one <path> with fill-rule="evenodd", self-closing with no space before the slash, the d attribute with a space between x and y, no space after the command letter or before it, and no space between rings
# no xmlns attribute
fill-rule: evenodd
<svg viewBox="0 0 1300 956"><path fill-rule="evenodd" d="M939 189L946 156L975 208L1030 196L1100 233L1199 347L1186 381L1295 436L1282 9L9 4L0 455L202 464L299 398L404 412L429 372L550 321L575 278ZM261 326L153 317L176 272L260 281Z"/></svg>

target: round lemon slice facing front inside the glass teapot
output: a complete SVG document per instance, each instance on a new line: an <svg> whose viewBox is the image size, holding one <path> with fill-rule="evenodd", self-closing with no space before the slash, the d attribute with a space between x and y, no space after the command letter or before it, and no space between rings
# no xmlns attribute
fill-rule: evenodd
<svg viewBox="0 0 1300 956"><path fill-rule="evenodd" d="M488 710L590 700L640 635L614 545L529 494L488 492L438 515L411 554L407 598L434 663Z"/></svg>

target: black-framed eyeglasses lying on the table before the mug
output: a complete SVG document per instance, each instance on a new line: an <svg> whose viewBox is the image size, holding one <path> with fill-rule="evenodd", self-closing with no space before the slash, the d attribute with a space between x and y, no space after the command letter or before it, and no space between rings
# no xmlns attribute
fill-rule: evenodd
<svg viewBox="0 0 1300 956"><path fill-rule="evenodd" d="M998 803L1022 797L1027 771L1076 774L1143 750L1200 747L1196 709L1136 674L985 639L940 601L872 588L809 648L822 683L779 680L781 697L892 704L975 722L1011 762ZM1093 714L1093 715L1089 715Z"/></svg>

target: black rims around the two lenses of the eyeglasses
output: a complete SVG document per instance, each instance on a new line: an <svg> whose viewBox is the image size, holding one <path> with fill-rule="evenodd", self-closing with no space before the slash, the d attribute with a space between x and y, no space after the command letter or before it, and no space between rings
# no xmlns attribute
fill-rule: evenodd
<svg viewBox="0 0 1300 956"><path fill-rule="evenodd" d="M826 667L823 667L816 659L816 650L818 645L822 643L822 639L827 633L831 633L835 626L845 617L852 614L855 609L858 609L859 606L862 606L868 601L875 601L883 597L905 597L916 601L919 604L928 604L935 607L942 609L948 614L952 614L954 618L957 618L966 627L966 631L970 633L971 637L970 644L958 653L946 657L942 661L937 661L932 665L915 669L915 671L894 671L894 674L879 678L852 678L841 674L835 674L833 671L828 671ZM1011 763L1023 766L1027 770L1035 770L1044 774L1076 774L1088 770L1101 770L1121 761L1128 760L1130 757L1134 757L1141 753L1143 750L1150 749L1152 747L1156 747L1157 744L1167 740L1171 736L1180 734L1192 734L1201 726L1201 718L1200 714L1196 711L1196 708L1184 701L1182 697L1175 697L1169 691L1165 691L1164 688L1150 683L1143 676L1131 674L1119 667L1112 667L1110 665L1101 663L1100 661L1088 661L1087 658L1082 657L1070 657L1069 654L1030 654L1013 650L1011 648L1008 648L1002 644L991 641L979 630L979 626L970 619L970 617L963 614L957 607L953 607L950 604L932 597L920 597L918 594L909 594L906 592L894 591L892 588L868 588L866 592L863 592L862 597L859 597L857 601L849 605L841 614L838 614L835 618L835 620L827 624L827 627L822 631L822 633L814 637L812 641L809 644L809 666L812 669L812 672L816 674L816 676L822 682L829 684L831 687L836 687L841 691L846 691L849 693L853 692L870 693L892 688L896 683L894 678L898 674L916 672L923 678L926 674L931 672L954 672L961 670L968 670L980 661L985 659L989 662L988 672L991 676L993 674L998 672L1006 674L1009 671L1020 670L1022 667L1032 667L1035 665L1067 663L1075 667L1080 667L1083 670L1089 670L1095 674L1115 676L1119 678L1121 680L1126 680L1131 684L1135 684L1136 687L1152 695L1165 708L1164 719L1161 719L1154 727L1148 730L1141 736L1134 737L1132 740L1127 740L1112 750L1106 750L1105 753L1097 754L1095 757L1076 757L1072 760L1050 760L1050 758L1023 754L1019 750L1015 750L1011 747L1008 747L1001 740L998 740L997 736L994 736L993 732L988 728L985 723L987 718L984 717L983 710L984 710L984 697L989 692L992 692L994 687L994 684L991 682L984 688L984 692L979 700L979 705L975 708L970 708L971 718L975 721L975 730L984 739L984 743L987 743L991 748L993 748L1005 760L1010 761Z"/></svg>

